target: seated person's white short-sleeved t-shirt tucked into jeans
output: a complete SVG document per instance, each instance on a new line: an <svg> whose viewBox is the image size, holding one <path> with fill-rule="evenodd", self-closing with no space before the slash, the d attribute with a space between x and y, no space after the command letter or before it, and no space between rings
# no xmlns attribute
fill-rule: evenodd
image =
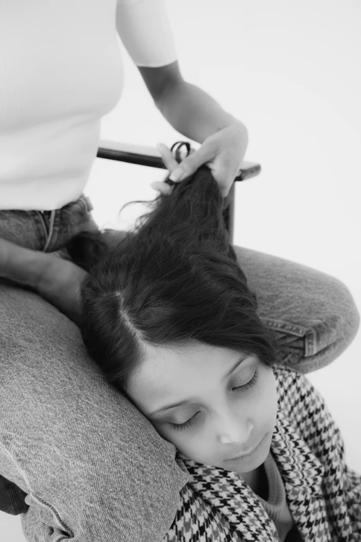
<svg viewBox="0 0 361 542"><path fill-rule="evenodd" d="M177 60L164 0L0 0L0 209L77 199L137 66Z"/></svg>

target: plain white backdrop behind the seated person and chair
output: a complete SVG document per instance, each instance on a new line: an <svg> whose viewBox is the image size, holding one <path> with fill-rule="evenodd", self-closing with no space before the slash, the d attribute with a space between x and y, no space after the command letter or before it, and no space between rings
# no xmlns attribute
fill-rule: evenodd
<svg viewBox="0 0 361 542"><path fill-rule="evenodd" d="M234 243L339 278L361 309L361 4L357 0L165 0L180 71L248 127L237 183ZM154 106L120 42L124 93L101 138L169 147L178 134ZM199 145L194 143L197 148ZM86 193L100 226L124 229L153 199L164 170L96 159ZM133 208L131 208L133 207ZM361 332L308 375L340 426L346 461L361 473ZM22 542L20 516L0 513L0 540ZM90 542L90 541L89 541Z"/></svg>

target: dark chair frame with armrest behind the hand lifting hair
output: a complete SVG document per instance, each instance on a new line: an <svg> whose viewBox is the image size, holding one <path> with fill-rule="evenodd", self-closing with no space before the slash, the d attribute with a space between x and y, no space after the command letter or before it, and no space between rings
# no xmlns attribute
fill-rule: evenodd
<svg viewBox="0 0 361 542"><path fill-rule="evenodd" d="M189 142L187 141L180 141L178 143L189 146ZM190 150L196 149L190 147ZM172 151L172 153L174 157L176 157L178 163L184 158L183 157L180 159L178 152ZM150 168L159 168L163 170L167 169L163 163L162 156L156 147L122 143L120 141L101 139L99 142L97 158L116 160L119 162L127 162L137 165L147 165ZM239 174L234 181L245 181L246 179L250 179L250 177L256 177L260 172L261 165L259 165L259 163L243 161L241 163ZM225 224L228 228L231 243L233 242L234 235L234 192L235 183L232 183L230 192L228 192L228 196L226 197L227 203L224 212Z"/></svg>

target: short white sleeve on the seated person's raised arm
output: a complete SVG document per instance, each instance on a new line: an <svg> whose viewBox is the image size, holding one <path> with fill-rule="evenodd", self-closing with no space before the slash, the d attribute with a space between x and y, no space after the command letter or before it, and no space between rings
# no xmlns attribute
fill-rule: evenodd
<svg viewBox="0 0 361 542"><path fill-rule="evenodd" d="M177 60L165 0L118 0L116 28L136 66L157 68Z"/></svg>

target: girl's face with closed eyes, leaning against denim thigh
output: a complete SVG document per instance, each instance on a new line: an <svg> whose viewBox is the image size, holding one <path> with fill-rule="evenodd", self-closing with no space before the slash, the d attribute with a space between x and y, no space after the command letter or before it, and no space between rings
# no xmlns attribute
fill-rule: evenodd
<svg viewBox="0 0 361 542"><path fill-rule="evenodd" d="M156 431L189 459L246 473L268 455L277 418L276 380L254 355L195 341L182 350L147 347L128 392ZM184 404L163 408L180 401ZM261 439L257 450L245 455ZM245 456L228 460L239 455Z"/></svg>

